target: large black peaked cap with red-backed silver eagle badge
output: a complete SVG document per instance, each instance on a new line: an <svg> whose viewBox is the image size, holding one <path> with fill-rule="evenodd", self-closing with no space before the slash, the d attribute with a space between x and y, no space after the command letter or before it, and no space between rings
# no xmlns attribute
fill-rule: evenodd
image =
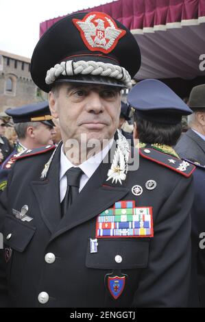
<svg viewBox="0 0 205 322"><path fill-rule="evenodd" d="M81 12L43 34L32 55L31 75L45 92L54 82L130 88L140 66L140 49L129 29L103 12Z"/></svg>

